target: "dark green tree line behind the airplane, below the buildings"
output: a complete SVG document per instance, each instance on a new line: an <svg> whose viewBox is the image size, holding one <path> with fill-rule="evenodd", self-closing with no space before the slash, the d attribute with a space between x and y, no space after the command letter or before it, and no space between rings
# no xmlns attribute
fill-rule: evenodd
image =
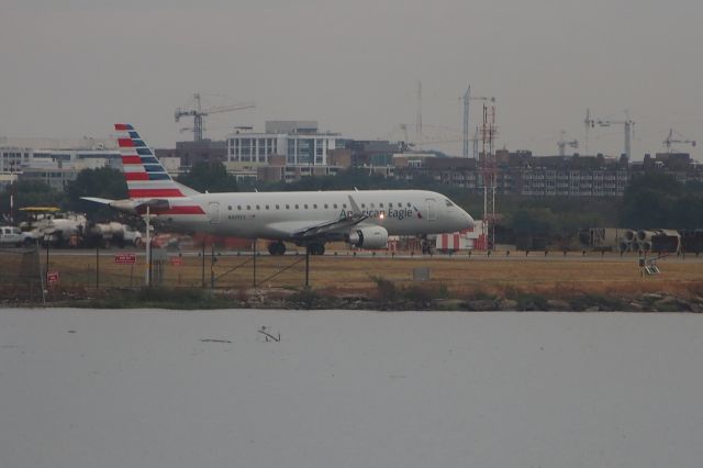
<svg viewBox="0 0 703 468"><path fill-rule="evenodd" d="M284 182L237 181L219 163L199 163L180 175L178 182L200 192L228 191L320 191L320 190L402 190L423 189L439 192L471 213L482 218L483 198L459 187L437 183L429 177L414 180L388 179L352 168L336 176L310 176ZM108 199L127 198L121 171L112 168L85 169L66 190L55 190L42 182L20 181L0 192L0 211L9 213L10 194L14 194L15 210L31 205L56 205L63 210L86 212L104 219L110 211L80 197ZM515 233L527 235L563 235L593 226L631 229L703 229L703 183L679 182L665 174L634 177L622 198L569 198L496 196L499 224Z"/></svg>

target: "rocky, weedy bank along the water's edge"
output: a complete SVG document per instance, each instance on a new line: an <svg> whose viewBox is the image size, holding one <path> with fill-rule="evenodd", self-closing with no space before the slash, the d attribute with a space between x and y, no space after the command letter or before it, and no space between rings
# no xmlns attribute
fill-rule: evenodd
<svg viewBox="0 0 703 468"><path fill-rule="evenodd" d="M475 292L457 296L446 289L394 287L380 281L373 290L345 292L314 289L202 290L144 288L140 290L62 289L42 298L0 301L2 308L82 309L283 309L373 311L555 311L555 312L693 312L703 313L703 296L670 292L602 294L529 292L509 290L503 294Z"/></svg>

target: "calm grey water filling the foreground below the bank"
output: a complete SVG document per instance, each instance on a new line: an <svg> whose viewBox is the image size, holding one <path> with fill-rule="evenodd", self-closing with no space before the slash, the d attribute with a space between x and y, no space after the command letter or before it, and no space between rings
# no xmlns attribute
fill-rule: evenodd
<svg viewBox="0 0 703 468"><path fill-rule="evenodd" d="M1 310L0 466L700 466L702 335L691 314Z"/></svg>

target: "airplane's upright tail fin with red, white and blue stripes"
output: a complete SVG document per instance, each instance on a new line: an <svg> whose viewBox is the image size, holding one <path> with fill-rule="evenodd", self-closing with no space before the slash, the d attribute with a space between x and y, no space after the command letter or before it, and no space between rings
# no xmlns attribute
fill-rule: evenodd
<svg viewBox="0 0 703 468"><path fill-rule="evenodd" d="M131 199L177 199L197 193L176 182L134 126L115 123L122 167Z"/></svg>

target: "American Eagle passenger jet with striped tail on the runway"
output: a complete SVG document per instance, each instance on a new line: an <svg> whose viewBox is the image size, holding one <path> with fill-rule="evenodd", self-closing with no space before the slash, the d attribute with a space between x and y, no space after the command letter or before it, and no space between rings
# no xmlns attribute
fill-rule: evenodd
<svg viewBox="0 0 703 468"><path fill-rule="evenodd" d="M426 236L473 225L447 197L426 190L200 193L171 178L133 125L114 129L130 198L82 198L134 214L148 211L160 229L266 238L271 255L283 255L284 242L323 255L326 242L384 248L389 235Z"/></svg>

